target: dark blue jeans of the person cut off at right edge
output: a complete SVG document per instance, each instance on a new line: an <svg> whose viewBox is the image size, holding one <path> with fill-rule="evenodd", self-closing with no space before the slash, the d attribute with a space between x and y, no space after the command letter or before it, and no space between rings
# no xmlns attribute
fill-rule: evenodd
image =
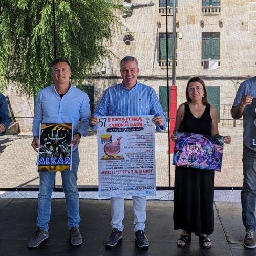
<svg viewBox="0 0 256 256"><path fill-rule="evenodd" d="M244 183L241 191L242 218L246 232L256 231L256 152L244 145L243 149Z"/></svg>

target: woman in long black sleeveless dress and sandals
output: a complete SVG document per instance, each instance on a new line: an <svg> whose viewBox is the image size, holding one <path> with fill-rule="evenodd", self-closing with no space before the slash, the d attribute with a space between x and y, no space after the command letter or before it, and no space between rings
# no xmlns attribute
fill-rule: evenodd
<svg viewBox="0 0 256 256"><path fill-rule="evenodd" d="M204 81L191 78L186 87L187 101L181 104L176 115L175 131L220 136L217 111L208 104ZM231 142L230 136L224 137ZM177 241L179 247L186 246L191 233L199 236L200 245L211 248L209 235L214 231L214 172L196 168L176 166L174 185L174 229L182 229Z"/></svg>

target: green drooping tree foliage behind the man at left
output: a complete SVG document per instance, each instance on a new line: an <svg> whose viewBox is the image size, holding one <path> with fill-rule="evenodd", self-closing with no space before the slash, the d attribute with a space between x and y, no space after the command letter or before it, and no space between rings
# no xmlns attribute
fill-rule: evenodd
<svg viewBox="0 0 256 256"><path fill-rule="evenodd" d="M109 56L120 0L54 0L56 56L72 63L73 79ZM29 95L52 82L53 0L0 0L0 80Z"/></svg>

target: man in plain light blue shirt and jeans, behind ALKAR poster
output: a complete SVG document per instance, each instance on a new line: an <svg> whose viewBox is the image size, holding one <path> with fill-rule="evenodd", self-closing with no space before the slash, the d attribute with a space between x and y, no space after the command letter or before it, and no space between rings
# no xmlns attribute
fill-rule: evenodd
<svg viewBox="0 0 256 256"><path fill-rule="evenodd" d="M91 116L89 97L70 83L71 66L66 59L55 59L52 63L54 84L39 91L36 97L33 121L32 147L39 147L40 123L73 123L73 154L70 172L61 172L63 191L66 198L68 228L72 245L80 245L79 195L77 189L77 170L79 165L78 144L81 136L86 136ZM79 119L82 124L78 128ZM48 238L48 223L51 215L51 195L56 172L39 172L40 187L38 196L37 231L30 239L28 247L37 247Z"/></svg>

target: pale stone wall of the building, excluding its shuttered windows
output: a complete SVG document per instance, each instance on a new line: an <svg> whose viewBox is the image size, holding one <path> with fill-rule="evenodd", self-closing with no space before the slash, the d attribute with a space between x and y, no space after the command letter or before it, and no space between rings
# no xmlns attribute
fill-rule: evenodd
<svg viewBox="0 0 256 256"><path fill-rule="evenodd" d="M149 0L132 0L131 3L148 3ZM134 9L131 17L123 18L122 30L113 33L112 51L105 60L105 69L97 67L95 78L84 81L94 86L94 103L104 90L121 82L119 61L127 55L139 61L139 80L154 87L166 85L166 69L159 66L159 33L165 33L165 16L159 13L159 1L151 7ZM221 0L218 15L202 14L201 0L177 0L177 67L178 104L185 101L185 87L192 76L201 76L207 86L220 86L221 105L232 104L239 84L255 74L256 66L256 1ZM203 24L201 22L203 21ZM129 32L134 40L130 45L123 41ZM168 16L168 32L172 32L172 16ZM220 32L220 66L204 70L201 65L202 32ZM101 72L102 71L102 72ZM172 84L172 69L169 84ZM229 77L229 78L226 78ZM16 116L33 116L33 98L20 95L15 90L4 92L12 103ZM19 99L18 99L19 98ZM22 131L31 130L31 119L20 121Z"/></svg>

